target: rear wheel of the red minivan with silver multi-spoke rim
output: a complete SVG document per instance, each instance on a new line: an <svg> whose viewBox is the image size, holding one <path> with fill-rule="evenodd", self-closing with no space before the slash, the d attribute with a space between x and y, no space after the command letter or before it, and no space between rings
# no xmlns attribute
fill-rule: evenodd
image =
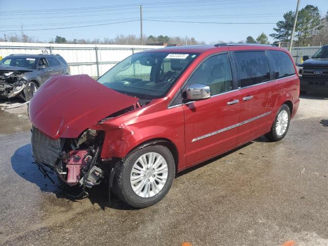
<svg viewBox="0 0 328 246"><path fill-rule="evenodd" d="M285 137L289 129L291 122L291 111L289 107L283 104L276 115L275 121L273 122L271 132L265 134L271 141L279 141Z"/></svg>

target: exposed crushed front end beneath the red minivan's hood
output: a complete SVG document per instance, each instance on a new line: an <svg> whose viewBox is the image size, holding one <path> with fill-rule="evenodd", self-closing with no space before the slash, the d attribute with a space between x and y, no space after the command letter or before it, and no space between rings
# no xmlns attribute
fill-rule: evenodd
<svg viewBox="0 0 328 246"><path fill-rule="evenodd" d="M32 129L32 153L35 163L46 176L55 173L69 186L83 189L99 185L105 177L99 153L104 132L88 129L78 138L49 138Z"/></svg>

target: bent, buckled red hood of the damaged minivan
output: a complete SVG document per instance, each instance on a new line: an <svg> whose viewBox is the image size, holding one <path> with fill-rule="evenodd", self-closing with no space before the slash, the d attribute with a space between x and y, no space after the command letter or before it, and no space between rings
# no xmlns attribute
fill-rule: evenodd
<svg viewBox="0 0 328 246"><path fill-rule="evenodd" d="M75 138L137 100L99 84L88 75L55 75L31 99L29 115L33 125L49 137Z"/></svg>

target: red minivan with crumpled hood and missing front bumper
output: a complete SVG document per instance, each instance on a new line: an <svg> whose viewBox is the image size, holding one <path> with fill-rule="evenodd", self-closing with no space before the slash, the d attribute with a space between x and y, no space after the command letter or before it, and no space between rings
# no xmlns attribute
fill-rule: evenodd
<svg viewBox="0 0 328 246"><path fill-rule="evenodd" d="M290 53L245 44L135 53L97 81L55 75L29 105L35 163L83 194L106 182L133 207L160 201L177 172L261 135L299 106Z"/></svg>

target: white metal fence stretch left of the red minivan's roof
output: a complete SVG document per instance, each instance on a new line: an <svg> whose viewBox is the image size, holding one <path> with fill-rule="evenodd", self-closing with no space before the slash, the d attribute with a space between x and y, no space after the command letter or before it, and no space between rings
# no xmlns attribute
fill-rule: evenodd
<svg viewBox="0 0 328 246"><path fill-rule="evenodd" d="M135 52L162 48L141 45L74 45L0 42L0 56L10 54L59 54L71 68L71 74L98 77Z"/></svg>

